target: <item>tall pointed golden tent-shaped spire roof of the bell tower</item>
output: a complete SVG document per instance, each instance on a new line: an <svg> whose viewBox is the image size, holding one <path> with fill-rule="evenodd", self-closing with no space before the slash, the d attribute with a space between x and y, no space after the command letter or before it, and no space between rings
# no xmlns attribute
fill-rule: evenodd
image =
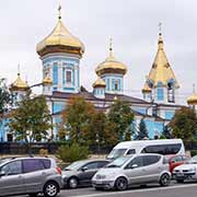
<svg viewBox="0 0 197 197"><path fill-rule="evenodd" d="M152 81L153 85L157 86L158 82L162 82L163 85L167 85L169 81L174 81L175 86L179 88L175 74L169 63L166 55L163 49L163 38L162 34L159 34L158 40L158 53L154 58L154 62L149 72L148 79Z"/></svg>

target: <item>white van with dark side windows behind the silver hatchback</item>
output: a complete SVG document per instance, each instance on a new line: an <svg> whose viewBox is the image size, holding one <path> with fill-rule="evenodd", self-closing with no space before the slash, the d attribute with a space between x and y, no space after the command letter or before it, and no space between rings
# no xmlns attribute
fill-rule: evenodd
<svg viewBox="0 0 197 197"><path fill-rule="evenodd" d="M121 155L139 153L185 154L185 147L182 139L124 141L114 147L107 159L114 160Z"/></svg>

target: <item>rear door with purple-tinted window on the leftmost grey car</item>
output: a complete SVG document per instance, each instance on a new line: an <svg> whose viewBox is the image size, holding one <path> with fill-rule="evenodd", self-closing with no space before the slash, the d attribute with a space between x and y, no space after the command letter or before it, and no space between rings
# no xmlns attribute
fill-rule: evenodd
<svg viewBox="0 0 197 197"><path fill-rule="evenodd" d="M23 160L23 173L26 193L37 193L43 190L43 184L46 179L46 172L42 160Z"/></svg>

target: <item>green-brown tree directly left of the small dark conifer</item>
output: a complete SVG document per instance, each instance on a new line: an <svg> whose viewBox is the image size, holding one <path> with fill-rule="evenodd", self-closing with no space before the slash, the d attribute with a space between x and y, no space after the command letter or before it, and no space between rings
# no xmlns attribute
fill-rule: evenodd
<svg viewBox="0 0 197 197"><path fill-rule="evenodd" d="M134 113L127 102L116 100L108 112L108 120L114 126L114 135L117 141L128 140L131 136L130 125Z"/></svg>

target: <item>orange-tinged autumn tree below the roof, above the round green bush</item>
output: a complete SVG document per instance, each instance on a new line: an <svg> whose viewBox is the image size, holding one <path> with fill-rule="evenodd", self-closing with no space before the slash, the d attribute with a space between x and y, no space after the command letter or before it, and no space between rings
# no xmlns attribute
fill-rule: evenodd
<svg viewBox="0 0 197 197"><path fill-rule="evenodd" d="M86 132L94 113L93 104L84 97L71 97L62 112L61 131L65 130L71 142L86 144Z"/></svg>

